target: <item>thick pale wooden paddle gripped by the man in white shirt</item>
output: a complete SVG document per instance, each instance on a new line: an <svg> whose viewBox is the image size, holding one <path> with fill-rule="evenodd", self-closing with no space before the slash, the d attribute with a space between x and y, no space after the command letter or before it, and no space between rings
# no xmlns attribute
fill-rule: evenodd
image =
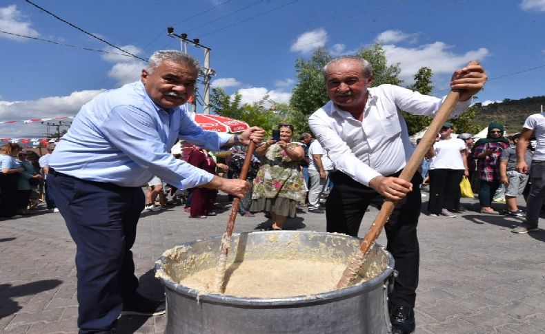
<svg viewBox="0 0 545 334"><path fill-rule="evenodd" d="M469 65L479 65L479 62L470 61L467 66ZM428 152L433 143L435 143L435 138L439 133L439 129L441 129L443 124L448 120L450 112L452 112L455 108L459 98L460 92L458 90L451 90L448 93L445 101L443 101L441 107L439 107L437 114L435 114L435 118L433 118L433 121L426 130L426 133L424 133L424 136L422 136L422 140L420 140L420 143L417 145L415 152L412 156L410 156L407 165L399 175L399 178L409 182L413 179L415 171L417 171L420 163L422 163L422 159L424 159L424 156L426 156L426 152ZM396 203L397 200L384 201L379 214L377 217L375 217L373 224L371 224L369 230L364 236L364 240L362 240L359 244L358 254L355 255L350 264L348 264L348 267L346 267L341 280L339 280L337 283L337 289L346 288L346 286L348 286L350 282L355 279L359 268L361 268L361 265L363 264L362 260L364 259L364 255L366 255L371 246L375 244L375 241L379 237L384 225L386 225L386 222L388 222L388 218L390 218L390 214L392 214Z"/></svg>

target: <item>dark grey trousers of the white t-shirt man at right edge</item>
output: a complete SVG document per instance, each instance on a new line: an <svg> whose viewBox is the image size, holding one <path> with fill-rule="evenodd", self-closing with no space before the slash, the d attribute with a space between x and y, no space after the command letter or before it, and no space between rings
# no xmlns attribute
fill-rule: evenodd
<svg viewBox="0 0 545 334"><path fill-rule="evenodd" d="M526 223L530 227L537 227L539 212L545 199L545 161L532 160L530 180L532 186L526 201Z"/></svg>

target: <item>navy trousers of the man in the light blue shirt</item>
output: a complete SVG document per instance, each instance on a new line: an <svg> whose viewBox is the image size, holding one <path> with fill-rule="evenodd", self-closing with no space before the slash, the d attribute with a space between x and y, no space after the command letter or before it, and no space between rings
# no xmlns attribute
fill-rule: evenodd
<svg viewBox="0 0 545 334"><path fill-rule="evenodd" d="M130 249L146 202L143 191L57 172L48 175L48 189L77 246L79 333L109 331L123 295L138 287Z"/></svg>

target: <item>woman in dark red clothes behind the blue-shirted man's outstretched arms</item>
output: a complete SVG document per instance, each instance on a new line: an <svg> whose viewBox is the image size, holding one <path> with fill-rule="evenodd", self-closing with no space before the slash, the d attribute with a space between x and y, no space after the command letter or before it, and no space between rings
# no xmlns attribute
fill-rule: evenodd
<svg viewBox="0 0 545 334"><path fill-rule="evenodd" d="M191 153L188 156L188 163L204 171L208 171L208 173L216 174L216 162L208 154L208 151L201 147L195 145L192 147ZM212 212L216 194L217 190L215 189L205 187L192 188L190 218L216 216L216 213Z"/></svg>

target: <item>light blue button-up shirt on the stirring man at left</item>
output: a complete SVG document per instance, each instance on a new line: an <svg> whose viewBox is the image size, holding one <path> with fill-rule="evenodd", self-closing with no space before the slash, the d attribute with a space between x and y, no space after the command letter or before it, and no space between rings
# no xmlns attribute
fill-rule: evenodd
<svg viewBox="0 0 545 334"><path fill-rule="evenodd" d="M169 153L177 138L217 151L230 134L204 131L183 106L160 107L137 81L83 105L49 165L83 180L124 187L139 187L154 175L180 189L210 182L212 174Z"/></svg>

